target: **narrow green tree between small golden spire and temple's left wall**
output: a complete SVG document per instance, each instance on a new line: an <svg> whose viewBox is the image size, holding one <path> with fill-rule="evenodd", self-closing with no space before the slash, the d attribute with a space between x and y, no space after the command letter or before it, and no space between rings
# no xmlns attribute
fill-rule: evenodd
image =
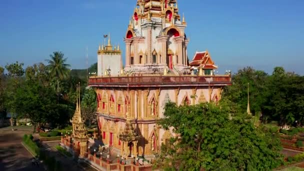
<svg viewBox="0 0 304 171"><path fill-rule="evenodd" d="M85 89L81 100L81 113L88 126L96 121L96 108L96 92L92 88Z"/></svg>

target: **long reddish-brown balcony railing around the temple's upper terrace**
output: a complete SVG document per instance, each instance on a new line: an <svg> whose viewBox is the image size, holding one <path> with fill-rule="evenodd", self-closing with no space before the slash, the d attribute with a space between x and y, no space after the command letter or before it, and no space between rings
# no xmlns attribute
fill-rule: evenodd
<svg viewBox="0 0 304 171"><path fill-rule="evenodd" d="M91 76L89 77L90 86L99 85L175 85L175 84L224 84L231 85L230 75L197 76L197 75L178 75L178 76Z"/></svg>

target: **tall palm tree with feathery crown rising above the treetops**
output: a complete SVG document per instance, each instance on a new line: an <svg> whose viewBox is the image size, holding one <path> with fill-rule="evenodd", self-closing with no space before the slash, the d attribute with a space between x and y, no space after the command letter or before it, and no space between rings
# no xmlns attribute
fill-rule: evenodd
<svg viewBox="0 0 304 171"><path fill-rule="evenodd" d="M54 51L49 55L50 59L46 59L50 76L54 76L57 79L57 96L59 95L59 80L64 79L68 75L69 64L65 61L67 58L63 58L64 54L61 51Z"/></svg>

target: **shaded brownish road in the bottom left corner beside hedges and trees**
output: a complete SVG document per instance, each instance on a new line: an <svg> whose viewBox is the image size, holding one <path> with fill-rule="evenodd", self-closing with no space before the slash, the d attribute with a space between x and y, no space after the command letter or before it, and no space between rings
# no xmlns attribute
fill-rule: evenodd
<svg viewBox="0 0 304 171"><path fill-rule="evenodd" d="M44 170L31 165L32 155L21 144L23 134L30 131L30 127L15 131L0 128L0 170Z"/></svg>

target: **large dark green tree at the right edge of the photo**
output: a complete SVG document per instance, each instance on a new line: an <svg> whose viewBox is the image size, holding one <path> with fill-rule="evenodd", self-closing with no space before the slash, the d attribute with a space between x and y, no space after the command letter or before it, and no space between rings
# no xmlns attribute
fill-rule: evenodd
<svg viewBox="0 0 304 171"><path fill-rule="evenodd" d="M275 67L267 80L263 117L276 120L280 125L304 122L304 77L286 73Z"/></svg>

